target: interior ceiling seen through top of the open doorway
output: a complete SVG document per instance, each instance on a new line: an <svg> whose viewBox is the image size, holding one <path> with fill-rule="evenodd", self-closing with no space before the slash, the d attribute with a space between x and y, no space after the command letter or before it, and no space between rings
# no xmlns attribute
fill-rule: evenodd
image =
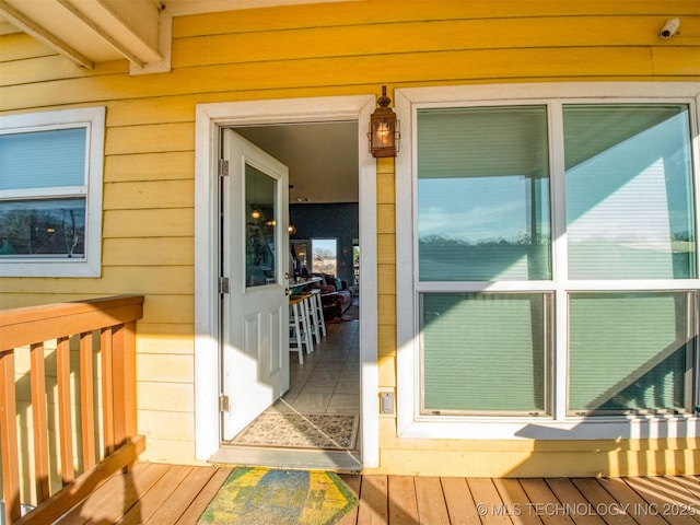
<svg viewBox="0 0 700 525"><path fill-rule="evenodd" d="M357 122L234 128L289 167L290 205L358 202Z"/></svg>

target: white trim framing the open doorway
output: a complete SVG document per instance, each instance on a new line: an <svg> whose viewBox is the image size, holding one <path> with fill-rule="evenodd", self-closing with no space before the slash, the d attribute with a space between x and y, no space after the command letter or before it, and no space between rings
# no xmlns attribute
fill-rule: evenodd
<svg viewBox="0 0 700 525"><path fill-rule="evenodd" d="M195 453L207 460L219 450L218 175L220 128L256 124L357 120L360 164L360 412L362 464L380 463L377 411L376 162L365 124L374 95L199 104L195 145ZM217 381L214 381L217 378Z"/></svg>

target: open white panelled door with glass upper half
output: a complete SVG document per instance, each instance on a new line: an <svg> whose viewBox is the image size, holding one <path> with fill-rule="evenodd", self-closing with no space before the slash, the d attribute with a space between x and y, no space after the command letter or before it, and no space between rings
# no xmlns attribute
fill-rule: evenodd
<svg viewBox="0 0 700 525"><path fill-rule="evenodd" d="M289 173L230 129L222 142L229 161L221 221L229 280L221 301L226 441L289 389Z"/></svg>

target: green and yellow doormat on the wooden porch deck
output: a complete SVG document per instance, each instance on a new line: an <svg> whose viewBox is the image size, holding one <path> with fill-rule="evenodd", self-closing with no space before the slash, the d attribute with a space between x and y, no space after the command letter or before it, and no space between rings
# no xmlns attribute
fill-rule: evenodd
<svg viewBox="0 0 700 525"><path fill-rule="evenodd" d="M331 525L358 499L334 472L237 467L198 525Z"/></svg>

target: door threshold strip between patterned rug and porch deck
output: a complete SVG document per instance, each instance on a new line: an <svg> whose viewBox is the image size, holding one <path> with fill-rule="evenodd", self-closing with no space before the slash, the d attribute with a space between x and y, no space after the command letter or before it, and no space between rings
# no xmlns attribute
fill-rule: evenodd
<svg viewBox="0 0 700 525"><path fill-rule="evenodd" d="M362 462L358 451L222 445L209 458L209 463L293 470L331 470L343 474L360 474L362 471Z"/></svg>

